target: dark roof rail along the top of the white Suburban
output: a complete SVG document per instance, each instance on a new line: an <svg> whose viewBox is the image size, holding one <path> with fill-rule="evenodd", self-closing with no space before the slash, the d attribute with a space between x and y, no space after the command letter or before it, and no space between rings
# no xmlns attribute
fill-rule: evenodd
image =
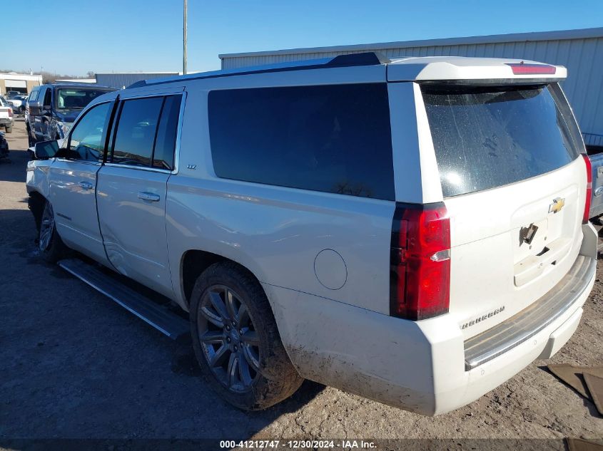
<svg viewBox="0 0 603 451"><path fill-rule="evenodd" d="M163 83L176 83L183 80L202 80L205 78L250 75L254 73L308 71L309 69L328 69L353 66L376 66L387 63L390 63L390 59L379 52L349 53L348 55L338 55L331 58L289 61L288 63L268 64L265 66L252 66L247 68L226 69L222 71L193 73L188 76L155 78L149 81L141 80L129 85L128 88L140 88L141 86L161 85Z"/></svg>

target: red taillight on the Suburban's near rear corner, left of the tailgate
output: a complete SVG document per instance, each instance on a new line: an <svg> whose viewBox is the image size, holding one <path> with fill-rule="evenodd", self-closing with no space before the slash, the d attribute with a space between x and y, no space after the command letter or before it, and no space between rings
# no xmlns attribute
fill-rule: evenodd
<svg viewBox="0 0 603 451"><path fill-rule="evenodd" d="M410 320L447 313L450 219L443 202L396 204L390 256L390 315Z"/></svg>

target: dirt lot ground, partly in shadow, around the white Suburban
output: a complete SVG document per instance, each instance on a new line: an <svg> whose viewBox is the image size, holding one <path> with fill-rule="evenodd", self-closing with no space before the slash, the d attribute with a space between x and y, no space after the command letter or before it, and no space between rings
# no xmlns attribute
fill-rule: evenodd
<svg viewBox="0 0 603 451"><path fill-rule="evenodd" d="M265 412L230 407L174 343L36 256L24 123L0 163L0 447L36 438L603 438L594 405L537 361L437 418L305 383ZM603 364L603 284L554 363ZM401 368L403 370L403 368ZM218 449L218 447L216 447Z"/></svg>

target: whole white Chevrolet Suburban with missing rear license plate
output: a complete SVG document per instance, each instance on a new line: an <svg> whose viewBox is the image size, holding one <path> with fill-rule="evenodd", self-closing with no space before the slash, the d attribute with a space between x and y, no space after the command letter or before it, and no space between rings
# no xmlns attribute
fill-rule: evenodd
<svg viewBox="0 0 603 451"><path fill-rule="evenodd" d="M41 255L168 336L67 249L188 311L239 408L308 378L445 413L556 353L594 284L566 76L360 53L135 83L36 145Z"/></svg>

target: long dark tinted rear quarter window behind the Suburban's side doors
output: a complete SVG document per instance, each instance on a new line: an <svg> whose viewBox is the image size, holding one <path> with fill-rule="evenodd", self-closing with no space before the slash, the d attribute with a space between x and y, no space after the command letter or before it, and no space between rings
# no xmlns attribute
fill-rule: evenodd
<svg viewBox="0 0 603 451"><path fill-rule="evenodd" d="M214 90L218 177L394 199L385 83Z"/></svg>

